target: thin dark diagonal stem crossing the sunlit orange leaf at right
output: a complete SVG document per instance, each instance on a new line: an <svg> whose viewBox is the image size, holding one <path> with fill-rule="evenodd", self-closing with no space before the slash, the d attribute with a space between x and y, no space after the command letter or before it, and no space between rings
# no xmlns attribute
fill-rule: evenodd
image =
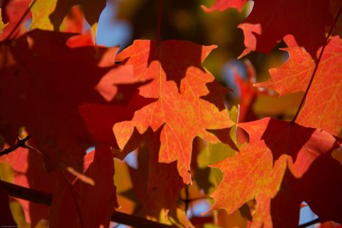
<svg viewBox="0 0 342 228"><path fill-rule="evenodd" d="M337 16L335 17L334 19L334 25L336 25L337 23L337 20L339 19L339 16L341 14L341 11L342 11L342 6L341 8L339 9L339 12L337 13ZM297 112L295 113L295 116L293 117L291 123L295 123L295 120L297 119L298 117L298 114L300 113L300 110L302 110L302 107L304 105L304 101L306 99L306 96L308 94L308 90L311 88L311 84L313 84L313 79L315 78L315 75L316 75L316 72L317 72L317 68L319 66L319 62L321 62L321 57L324 53L324 50L326 49L326 45L328 45L328 40L330 38L330 35L332 34L332 30L334 29L334 26L332 26L328 32L328 36L326 37L326 42L325 44L323 45L323 47L321 48L321 52L319 53L319 57L317 59L317 62L315 64L315 68L313 69L313 74L311 75L311 78L310 78L310 81L308 82L308 86L306 87L306 90L305 90L305 93L304 93L304 96L302 98L302 101L300 101L300 105L298 107L298 110Z"/></svg>

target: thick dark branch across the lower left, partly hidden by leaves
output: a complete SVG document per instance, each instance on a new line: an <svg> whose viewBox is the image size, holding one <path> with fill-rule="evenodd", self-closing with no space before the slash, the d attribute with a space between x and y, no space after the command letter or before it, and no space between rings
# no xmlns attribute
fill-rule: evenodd
<svg viewBox="0 0 342 228"><path fill-rule="evenodd" d="M25 199L27 201L31 201L34 203L40 203L42 205L51 206L53 195L47 192L41 192L38 190L34 190L31 188L25 188L22 186L17 186L13 183L8 183L6 181L1 181L0 184L5 190L5 192L11 197L16 197L20 199ZM140 218L137 216L133 216L130 214L124 214L122 212L114 212L111 215L111 221L130 225L137 228L172 228L172 225L166 225L157 223L151 220L147 220L145 218Z"/></svg>

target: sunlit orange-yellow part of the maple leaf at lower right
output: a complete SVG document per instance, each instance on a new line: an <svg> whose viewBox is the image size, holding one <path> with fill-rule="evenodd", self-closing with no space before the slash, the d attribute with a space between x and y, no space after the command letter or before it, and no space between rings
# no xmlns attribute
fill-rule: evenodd
<svg viewBox="0 0 342 228"><path fill-rule="evenodd" d="M269 203L276 195L286 167L285 157L273 164L272 153L263 144L242 148L239 153L211 167L224 172L222 182L211 194L215 200L212 209L223 208L232 214L244 203L256 199L258 203L254 227L270 223ZM256 221L257 220L257 221Z"/></svg>

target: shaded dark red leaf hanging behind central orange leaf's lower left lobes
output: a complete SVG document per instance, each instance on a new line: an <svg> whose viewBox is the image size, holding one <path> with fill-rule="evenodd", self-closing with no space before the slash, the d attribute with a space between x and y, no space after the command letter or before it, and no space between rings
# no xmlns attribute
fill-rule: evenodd
<svg viewBox="0 0 342 228"><path fill-rule="evenodd" d="M142 204L141 213L154 218L159 218L161 210L168 213L185 186L179 176L176 162L158 162L160 132L161 129L154 134L152 129L148 129L144 134L146 145L138 151L138 167L129 168L135 195Z"/></svg>

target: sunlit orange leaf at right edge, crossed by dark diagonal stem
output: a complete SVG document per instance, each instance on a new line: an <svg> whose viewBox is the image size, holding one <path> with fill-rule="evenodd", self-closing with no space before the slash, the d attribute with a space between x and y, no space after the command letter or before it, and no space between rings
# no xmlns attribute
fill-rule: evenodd
<svg viewBox="0 0 342 228"><path fill-rule="evenodd" d="M288 42L293 40L287 39ZM276 90L283 96L285 94L305 91L315 68L315 61L311 55L300 47L283 49L290 55L289 60L278 68L269 70L271 79L255 84ZM318 51L317 56L319 55ZM315 78L306 96L306 103L300 112L296 123L324 129L331 134L338 135L342 126L342 90L339 72L342 66L342 42L339 36L330 39L321 62L317 68Z"/></svg>

